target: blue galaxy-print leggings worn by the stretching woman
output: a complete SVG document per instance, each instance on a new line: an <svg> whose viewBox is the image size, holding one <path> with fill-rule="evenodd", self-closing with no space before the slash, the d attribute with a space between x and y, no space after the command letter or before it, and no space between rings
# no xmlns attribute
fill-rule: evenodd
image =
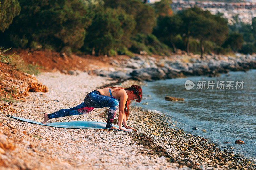
<svg viewBox="0 0 256 170"><path fill-rule="evenodd" d="M91 112L94 108L110 107L108 110L108 120L106 129L112 127L112 122L116 116L119 101L112 97L100 95L100 92L94 90L86 95L84 102L70 109L61 109L57 112L48 114L48 118L57 118L64 116L81 115Z"/></svg>

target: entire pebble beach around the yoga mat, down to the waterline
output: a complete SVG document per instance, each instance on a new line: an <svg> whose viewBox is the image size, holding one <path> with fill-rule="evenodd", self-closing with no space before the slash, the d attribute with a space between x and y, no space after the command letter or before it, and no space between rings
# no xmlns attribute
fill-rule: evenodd
<svg viewBox="0 0 256 170"><path fill-rule="evenodd" d="M30 93L22 102L11 103L13 116L43 121L44 113L71 108L85 95L115 80L88 75L41 73L38 81L48 92ZM121 86L135 84L133 80ZM116 85L119 86L119 85ZM2 105L9 105L2 103ZM127 124L136 132L67 129L15 120L1 111L0 142L15 148L1 151L3 169L255 169L255 162L221 151L207 139L184 132L170 116L158 111L131 107ZM117 124L117 117L114 124ZM55 118L49 122L106 122L106 108L85 115Z"/></svg>

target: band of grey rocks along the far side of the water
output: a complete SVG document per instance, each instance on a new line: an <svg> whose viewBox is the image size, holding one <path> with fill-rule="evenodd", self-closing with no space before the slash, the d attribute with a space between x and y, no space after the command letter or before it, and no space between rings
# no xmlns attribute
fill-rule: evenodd
<svg viewBox="0 0 256 170"><path fill-rule="evenodd" d="M155 58L136 55L126 61L112 60L113 67L91 71L99 76L127 80L152 81L159 79L181 78L186 76L206 75L220 76L229 71L247 71L256 68L256 55L235 56L205 55L174 55L172 57Z"/></svg>

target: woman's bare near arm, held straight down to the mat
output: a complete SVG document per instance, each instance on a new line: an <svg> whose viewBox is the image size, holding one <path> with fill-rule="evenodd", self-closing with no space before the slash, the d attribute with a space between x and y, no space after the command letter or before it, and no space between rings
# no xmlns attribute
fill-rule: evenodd
<svg viewBox="0 0 256 170"><path fill-rule="evenodd" d="M118 126L119 126L120 130L124 130L124 131L127 131L124 128L122 128L122 122L125 121L125 124L126 124L124 107L125 107L125 103L126 103L127 99L128 99L127 93L125 92L125 90L122 90L122 92L120 94L120 102L119 102Z"/></svg>

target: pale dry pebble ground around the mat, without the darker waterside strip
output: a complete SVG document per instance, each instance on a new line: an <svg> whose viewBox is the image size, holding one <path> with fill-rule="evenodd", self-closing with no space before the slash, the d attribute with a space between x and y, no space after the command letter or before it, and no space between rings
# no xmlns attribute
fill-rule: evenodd
<svg viewBox="0 0 256 170"><path fill-rule="evenodd" d="M104 84L107 78L60 73L42 73L36 77L49 88L47 93L31 93L23 102L12 103L14 116L42 122L44 113L71 108L83 102L85 95ZM51 119L61 121L100 121L104 108L86 115ZM134 143L132 133L113 130L65 129L45 127L6 117L2 111L2 138L13 141L14 150L0 155L4 169L172 169L165 157L142 154L143 145Z"/></svg>

